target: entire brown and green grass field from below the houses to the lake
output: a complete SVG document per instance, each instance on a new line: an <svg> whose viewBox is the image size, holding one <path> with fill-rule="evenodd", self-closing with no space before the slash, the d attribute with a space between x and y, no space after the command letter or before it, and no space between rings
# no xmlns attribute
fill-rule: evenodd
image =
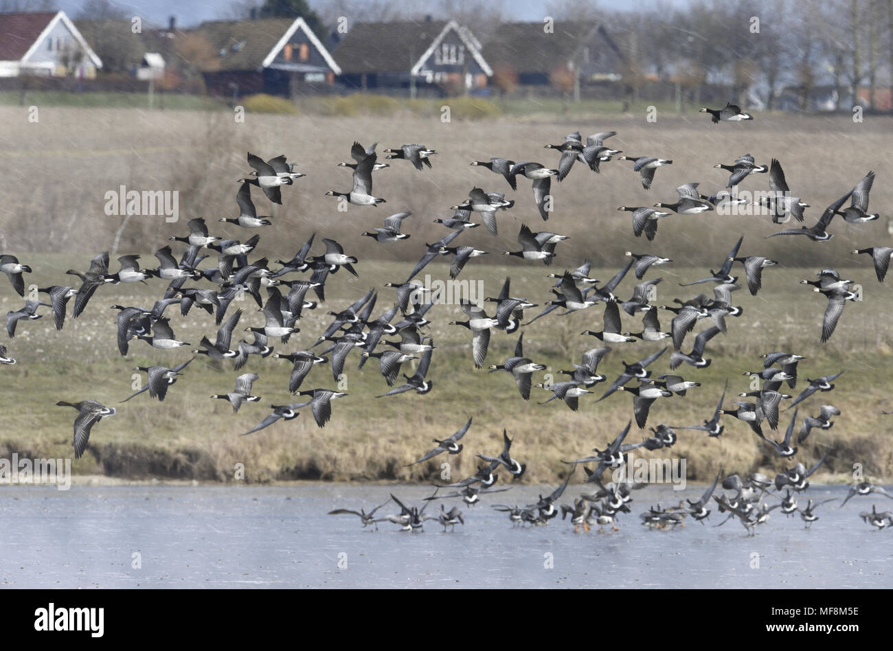
<svg viewBox="0 0 893 651"><path fill-rule="evenodd" d="M562 184L554 184L556 212L546 226L572 237L559 246L561 257L555 271L576 266L588 256L600 268L597 277L606 279L625 263L624 250L669 255L675 261L672 266L649 272L649 277L664 277L658 287L660 301L669 302L675 296L695 293L678 288L676 283L702 277L699 274L706 266L715 269L739 233L746 235L742 254L769 255L788 267L765 271L764 291L759 296L749 296L746 289L734 295L737 303L745 306L745 313L738 320L730 320L728 337L712 342L709 350L714 365L705 371L682 369L687 378L698 375L704 388L685 399L672 398L655 405L649 425L703 420L714 408L723 380L730 379L730 394L748 390L748 380L741 373L758 368L757 355L790 348L810 358L801 366L803 377L847 369L834 393L812 398L801 410L801 416L805 412L814 414L818 405L830 402L844 411L834 429L814 432L805 454L801 452L804 460L833 449L829 464L832 472L845 474L851 463L864 463L867 472L889 479L893 476L893 443L888 421L880 415L881 408L890 406L889 341L893 331L889 325L889 289L874 280L867 258L855 261L849 249L889 241L886 211L893 196L886 179L888 152L893 144L891 122L888 118L869 118L864 124L853 124L846 117L794 119L767 115L759 116L753 124L714 126L700 119L703 117L661 116L657 124L648 124L644 116L617 115L593 116L574 124L505 120L454 120L444 124L438 119L408 117L395 121L249 113L241 124L227 113L46 108L41 110L38 124L29 124L20 110L3 107L0 165L7 192L0 212L0 249L34 266L29 281L40 286L74 280L62 275L63 271L71 267L83 270L90 257L113 244L120 220L103 214L104 192L121 184L131 189L179 189L181 219L178 224L168 224L159 218L134 218L122 234L119 255L138 252L146 263L154 263L152 252L168 244L171 234L185 232L185 221L198 215L204 216L215 232L246 238L251 234L246 230L215 223L218 216L236 209L235 181L248 171L245 152L251 150L265 157L285 153L298 161L299 169L308 176L299 179L295 187L284 189L284 206L271 206L263 196L255 196L259 212L275 215L277 223L273 229L261 231L262 243L256 253L271 259L287 257L312 231L319 237L337 238L348 253L361 258L358 268L362 277L355 280L339 273L330 280L330 299L325 307L335 309L373 285L380 288L385 281L403 280L410 265L395 261L414 262L424 242L444 235L446 231L431 220L446 216L447 206L460 201L472 185L508 190L503 179L470 167L470 161L507 155L515 160L555 164L557 154L542 148L547 142L557 142L575 129L584 135L615 129L620 135L612 144L625 152L670 157L675 163L657 172L650 192L640 188L630 163L616 161L605 163L598 176L578 165ZM323 194L330 188L349 188L349 173L335 163L347 159L354 139L364 145L378 140L380 150L404 142L422 142L439 154L434 156L433 171L417 172L409 163L393 161L389 170L377 173L375 194L386 197L388 204L378 209L351 207L347 213L338 213L335 201ZM822 207L852 187L865 171L874 169L878 181L872 190L872 209L880 210L884 219L859 227L837 221L831 230L838 237L820 245L785 238L764 240L774 229L765 219L674 216L663 221L655 243L648 244L632 237L628 217L615 210L620 204L672 202L673 188L686 181L705 179L705 192L722 187L727 177L711 166L730 162L746 151L758 162L768 163L772 156L780 158L791 188L814 205L807 211L807 223L817 219ZM761 188L763 182L764 177L748 179L745 185ZM518 204L499 216L500 238L472 232L463 235L466 243L498 254L516 247L513 239L520 223L542 228L528 182L521 179L519 186L514 196ZM413 219L405 222L405 230L413 234L408 242L385 247L359 236L373 222L405 209L414 213ZM36 255L60 250L76 255ZM492 295L508 273L513 278L513 294L538 303L547 300L545 267L518 266L505 263L505 258L490 262L500 266L472 261L463 277L483 280L488 295ZM824 300L796 281L828 266L839 267L848 278L864 283L865 300L847 305L838 332L827 346L822 346L818 343L818 323ZM432 263L430 270L435 278L442 278L446 267ZM630 275L620 294L628 295L633 284ZM708 286L696 289L701 288ZM88 313L70 320L62 333L55 332L47 317L21 324L20 334L12 342L3 338L20 363L0 369L0 417L11 423L0 437L0 454L4 447L9 451L29 450L35 455L70 454L73 411L54 407L56 400L90 396L107 405L116 404L129 395L132 366L172 365L185 357L152 351L142 342L133 344L126 360L114 349L115 313L109 305L151 305L158 294L157 282L151 288L102 288ZM388 290L381 290L376 312L387 309L391 300ZM0 283L0 313L20 306L21 299L13 296L5 281ZM240 325L260 324L261 316L254 307L253 303L246 304ZM578 362L580 353L597 342L577 333L587 328L597 330L600 312L598 308L565 321L554 317L538 321L527 329L527 354L548 363L552 370ZM251 437L240 437L263 419L267 405L294 400L285 390L288 363L253 360L248 370L261 375L255 388L263 401L246 405L233 417L229 405L211 402L207 397L230 390L235 377L230 364L200 359L171 389L163 405L139 396L122 405L113 419L98 425L88 455L75 463L75 469L122 476L157 474L230 480L235 464L245 463L247 478L255 481L422 479L437 472L443 461L453 463L455 474L473 472L476 459L472 455L496 453L502 428L506 427L517 441L513 454L530 465L529 479L551 481L567 472L567 466L561 463L563 458L585 455L594 446L603 447L630 418L630 398L622 395L599 404L584 398L579 413L570 412L556 401L545 406L536 405L534 399L524 403L509 376L472 369L469 333L444 325L460 316L455 306L436 308L436 316L432 331L439 350L431 378L437 388L428 396L376 400L373 396L385 388L377 363L372 361L358 373L356 358L352 357L348 363L350 396L335 403L335 417L324 430L317 429L305 413L296 421L280 422ZM662 321L664 326L669 324L665 316ZM213 325L204 313L196 311L186 319L172 316L171 322L178 336L193 343L203 333L213 336ZM304 332L296 341L275 346L277 350L308 346L324 325L323 310L310 313L302 321ZM629 327L638 330L638 322L630 322ZM495 335L488 363L498 363L510 355L513 343L513 337ZM605 361L605 372L613 376L620 369L621 359L630 361L651 349L651 345L641 344L629 350L618 349ZM665 372L666 363L660 364L658 371ZM306 388L314 386L334 386L327 366L314 370L306 380ZM536 391L533 397L545 399ZM458 429L467 415L475 419L464 441L467 453L458 459L438 456L428 465L404 467L427 449L431 438ZM783 419L783 423L787 421ZM700 432L681 434L680 444L672 453L689 460L690 479L706 480L720 466L739 472L781 467L746 425L730 418L725 424L727 434L721 440L705 443ZM630 438L642 434L634 430Z"/></svg>

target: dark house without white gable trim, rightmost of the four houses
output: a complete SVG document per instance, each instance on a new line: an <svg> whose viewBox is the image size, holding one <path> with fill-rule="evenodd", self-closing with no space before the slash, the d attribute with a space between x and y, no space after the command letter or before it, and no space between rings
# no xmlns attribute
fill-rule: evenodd
<svg viewBox="0 0 893 651"><path fill-rule="evenodd" d="M505 22L483 47L497 76L522 87L573 79L581 84L622 79L625 57L598 22Z"/></svg>

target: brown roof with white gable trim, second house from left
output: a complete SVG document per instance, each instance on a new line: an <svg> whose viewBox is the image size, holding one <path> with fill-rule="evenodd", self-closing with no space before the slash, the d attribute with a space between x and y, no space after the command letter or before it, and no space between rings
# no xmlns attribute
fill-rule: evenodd
<svg viewBox="0 0 893 651"><path fill-rule="evenodd" d="M336 74L338 64L303 18L266 18L255 21L207 21L195 30L214 51L222 53L214 70L261 70L269 66L288 39L302 29L322 58Z"/></svg>

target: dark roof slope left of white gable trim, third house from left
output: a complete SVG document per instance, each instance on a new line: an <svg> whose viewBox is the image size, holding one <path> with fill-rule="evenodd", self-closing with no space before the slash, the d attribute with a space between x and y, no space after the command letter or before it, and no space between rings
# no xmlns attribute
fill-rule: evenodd
<svg viewBox="0 0 893 651"><path fill-rule="evenodd" d="M343 74L410 71L446 21L362 22L332 52Z"/></svg>

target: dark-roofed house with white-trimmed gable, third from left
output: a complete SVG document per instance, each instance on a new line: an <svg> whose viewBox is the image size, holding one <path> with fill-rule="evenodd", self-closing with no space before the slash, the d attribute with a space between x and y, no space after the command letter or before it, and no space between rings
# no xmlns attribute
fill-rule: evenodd
<svg viewBox="0 0 893 651"><path fill-rule="evenodd" d="M455 21L365 22L332 38L348 88L457 92L485 88L493 74L480 43Z"/></svg>

